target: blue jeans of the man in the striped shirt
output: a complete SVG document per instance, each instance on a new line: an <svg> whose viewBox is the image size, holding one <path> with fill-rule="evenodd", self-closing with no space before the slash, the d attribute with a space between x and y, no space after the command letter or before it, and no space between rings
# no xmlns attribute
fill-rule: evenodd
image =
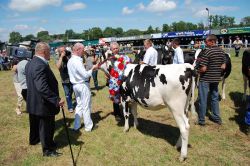
<svg viewBox="0 0 250 166"><path fill-rule="evenodd" d="M219 91L218 91L218 82L208 83L208 82L199 82L199 123L205 124L205 115L207 111L207 97L208 91L211 95L211 118L216 122L221 122L220 110L219 110Z"/></svg>

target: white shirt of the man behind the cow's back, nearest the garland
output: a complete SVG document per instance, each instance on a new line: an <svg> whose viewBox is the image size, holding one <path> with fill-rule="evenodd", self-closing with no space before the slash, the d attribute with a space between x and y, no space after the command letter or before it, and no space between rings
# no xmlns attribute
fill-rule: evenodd
<svg viewBox="0 0 250 166"><path fill-rule="evenodd" d="M158 52L153 48L149 47L144 55L143 62L154 66L157 65Z"/></svg>

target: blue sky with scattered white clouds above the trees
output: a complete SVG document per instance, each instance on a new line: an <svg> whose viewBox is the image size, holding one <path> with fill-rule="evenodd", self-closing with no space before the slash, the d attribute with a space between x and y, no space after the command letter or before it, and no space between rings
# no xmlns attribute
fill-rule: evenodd
<svg viewBox="0 0 250 166"><path fill-rule="evenodd" d="M36 36L42 30L80 33L108 26L146 30L181 20L207 24L206 8L239 23L250 16L249 6L249 0L1 0L0 40L8 40L12 31Z"/></svg>

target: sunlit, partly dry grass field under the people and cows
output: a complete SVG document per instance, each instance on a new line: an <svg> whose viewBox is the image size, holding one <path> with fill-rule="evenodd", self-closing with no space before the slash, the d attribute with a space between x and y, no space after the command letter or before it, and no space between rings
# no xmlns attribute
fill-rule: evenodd
<svg viewBox="0 0 250 166"><path fill-rule="evenodd" d="M70 139L77 165L249 165L250 137L244 133L245 103L242 102L243 81L241 56L232 55L233 69L227 79L226 100L220 102L223 125L207 120L206 127L194 125L191 129L188 158L180 163L180 153L174 145L179 130L171 113L164 109L156 112L138 109L139 127L123 132L123 124L117 124L111 115L112 103L108 99L104 75L99 71L100 91L92 90L92 118L98 128L91 133L70 132ZM50 65L58 78L54 62ZM91 82L93 87L93 82ZM62 87L60 94L64 97ZM63 116L56 116L55 141L58 158L42 157L41 145L28 144L28 114L17 116L16 93L11 71L0 71L0 165L72 165L67 137L63 128ZM66 112L70 127L74 114Z"/></svg>

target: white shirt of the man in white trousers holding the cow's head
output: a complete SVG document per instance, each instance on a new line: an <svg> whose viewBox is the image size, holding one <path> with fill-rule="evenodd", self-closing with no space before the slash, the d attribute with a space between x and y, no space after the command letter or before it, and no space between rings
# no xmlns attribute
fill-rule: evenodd
<svg viewBox="0 0 250 166"><path fill-rule="evenodd" d="M83 84L88 82L92 75L92 70L87 71L83 65L82 58L77 55L72 55L68 64L69 80L72 84Z"/></svg>

